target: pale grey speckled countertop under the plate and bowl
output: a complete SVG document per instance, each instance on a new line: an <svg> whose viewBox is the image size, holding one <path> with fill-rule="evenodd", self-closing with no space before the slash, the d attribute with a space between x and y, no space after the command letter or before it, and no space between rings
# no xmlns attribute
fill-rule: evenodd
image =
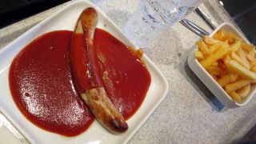
<svg viewBox="0 0 256 144"><path fill-rule="evenodd" d="M91 2L104 11L121 29L138 5L136 0ZM2 28L0 49L66 4ZM218 0L205 1L200 7L217 25L222 22L233 23ZM205 30L212 31L197 14L192 13L187 18ZM233 143L238 142L255 125L256 98L241 108L223 108L190 70L186 61L198 39L196 34L177 23L162 32L150 48L143 50L166 76L169 90L157 110L134 134L129 143ZM0 133L3 128L16 135L19 141L15 142L27 143L0 114Z"/></svg>

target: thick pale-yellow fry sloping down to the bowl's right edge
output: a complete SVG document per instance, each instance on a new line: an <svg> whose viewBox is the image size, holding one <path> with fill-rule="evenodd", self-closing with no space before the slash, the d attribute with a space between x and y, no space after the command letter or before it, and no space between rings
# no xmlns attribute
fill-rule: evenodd
<svg viewBox="0 0 256 144"><path fill-rule="evenodd" d="M231 71L240 75L242 78L256 80L256 74L250 70L247 70L246 68L241 66L238 62L234 60L230 60L230 62L226 62L225 64Z"/></svg>

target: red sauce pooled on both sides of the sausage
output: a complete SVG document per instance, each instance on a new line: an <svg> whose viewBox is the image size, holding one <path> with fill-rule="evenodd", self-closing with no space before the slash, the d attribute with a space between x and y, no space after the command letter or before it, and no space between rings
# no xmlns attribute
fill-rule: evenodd
<svg viewBox="0 0 256 144"><path fill-rule="evenodd" d="M72 34L54 31L35 39L14 58L9 72L10 92L22 114L36 126L68 137L94 122L72 78ZM150 74L136 54L104 30L95 30L94 46L106 93L130 118L142 105ZM88 80L82 80L85 86Z"/></svg>

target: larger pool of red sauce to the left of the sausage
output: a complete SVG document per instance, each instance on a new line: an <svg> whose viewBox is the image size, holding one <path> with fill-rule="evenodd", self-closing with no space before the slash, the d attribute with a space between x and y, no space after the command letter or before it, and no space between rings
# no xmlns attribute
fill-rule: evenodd
<svg viewBox="0 0 256 144"><path fill-rule="evenodd" d="M70 31L54 31L31 42L10 66L14 102L35 125L74 136L85 131L94 115L74 89L70 70Z"/></svg>

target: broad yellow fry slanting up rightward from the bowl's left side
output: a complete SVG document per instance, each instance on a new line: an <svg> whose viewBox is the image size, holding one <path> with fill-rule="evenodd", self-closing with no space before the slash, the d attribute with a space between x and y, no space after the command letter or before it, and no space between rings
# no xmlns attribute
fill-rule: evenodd
<svg viewBox="0 0 256 144"><path fill-rule="evenodd" d="M226 46L221 46L214 54L210 54L209 57L203 59L200 61L201 65L206 68L210 66L213 62L218 61L218 59L224 57L228 52L230 51L230 48L227 48Z"/></svg>

